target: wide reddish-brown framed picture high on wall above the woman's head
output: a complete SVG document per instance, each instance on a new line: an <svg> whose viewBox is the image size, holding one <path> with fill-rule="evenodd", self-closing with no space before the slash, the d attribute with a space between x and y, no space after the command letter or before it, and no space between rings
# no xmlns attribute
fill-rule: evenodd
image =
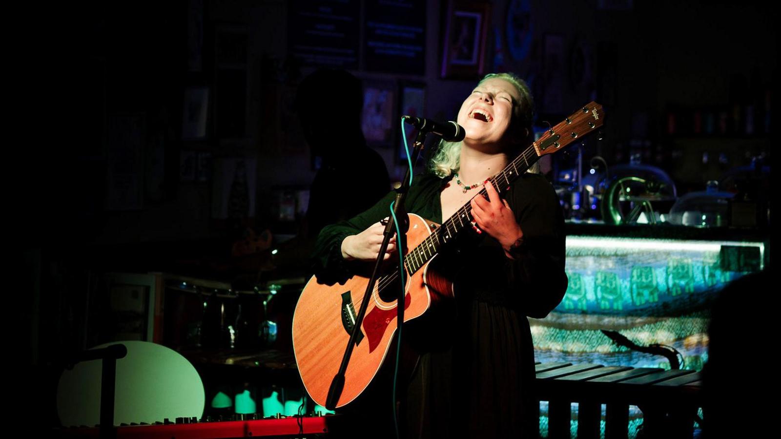
<svg viewBox="0 0 781 439"><path fill-rule="evenodd" d="M489 8L486 3L448 2L441 77L471 79L483 74Z"/></svg>

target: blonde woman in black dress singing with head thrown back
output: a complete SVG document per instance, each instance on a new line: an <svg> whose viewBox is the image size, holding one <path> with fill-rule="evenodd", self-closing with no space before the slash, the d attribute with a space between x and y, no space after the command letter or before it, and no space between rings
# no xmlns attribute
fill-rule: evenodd
<svg viewBox="0 0 781 439"><path fill-rule="evenodd" d="M415 331L405 337L421 355L405 383L404 437L536 434L526 316L547 316L564 295L564 221L553 187L539 174L517 178L504 197L487 181L530 145L532 116L523 80L511 73L487 75L458 112L465 139L441 142L428 172L415 178L408 193L407 211L435 223L471 203L474 227L441 255L455 301L447 311L405 324ZM483 186L488 199L475 196ZM376 259L380 220L393 198L391 193L372 209L323 229L314 255L319 277L350 277ZM391 241L383 257L398 258L396 251ZM375 409L388 409L389 400Z"/></svg>

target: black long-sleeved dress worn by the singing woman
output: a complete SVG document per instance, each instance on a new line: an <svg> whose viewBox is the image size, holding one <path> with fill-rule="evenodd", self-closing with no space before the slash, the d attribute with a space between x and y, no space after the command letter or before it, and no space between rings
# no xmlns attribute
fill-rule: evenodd
<svg viewBox="0 0 781 439"><path fill-rule="evenodd" d="M418 177L408 212L441 223L440 192L449 180ZM314 254L321 280L351 276L361 262L342 259L341 241L388 216L393 198L391 192L323 229ZM405 324L412 329L405 336L424 352L407 387L405 437L526 437L537 429L526 316L547 316L564 296L564 220L553 187L540 175L524 174L505 198L523 230L522 253L509 259L488 234L463 232L437 257L454 280L455 303ZM389 354L386 362L392 361Z"/></svg>

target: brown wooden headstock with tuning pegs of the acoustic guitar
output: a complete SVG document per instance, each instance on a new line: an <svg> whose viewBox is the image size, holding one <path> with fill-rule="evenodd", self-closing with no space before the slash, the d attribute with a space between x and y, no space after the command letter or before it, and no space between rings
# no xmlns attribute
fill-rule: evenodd
<svg viewBox="0 0 781 439"><path fill-rule="evenodd" d="M602 126L602 123L604 123L602 105L592 101L545 131L545 134L532 145L540 157L553 154L576 139L597 130Z"/></svg>

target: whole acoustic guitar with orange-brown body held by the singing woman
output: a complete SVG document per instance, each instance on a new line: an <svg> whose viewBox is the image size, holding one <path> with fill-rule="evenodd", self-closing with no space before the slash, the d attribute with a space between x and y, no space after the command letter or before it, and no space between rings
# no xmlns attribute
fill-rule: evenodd
<svg viewBox="0 0 781 439"><path fill-rule="evenodd" d="M562 150L601 127L603 121L602 106L590 102L547 130L492 177L491 184L501 195L512 180L526 172L541 156ZM487 197L485 188L475 196ZM433 303L452 298L453 285L438 275L431 268L431 263L459 231L472 227L471 210L468 202L441 226L409 214L408 250L403 259L406 273L405 322L422 316ZM309 396L319 405L326 405L328 389L355 327L355 317L369 284L369 276L369 273L366 277L355 274L344 284L332 285L312 277L298 299L293 315L293 349L301 380ZM337 407L357 398L382 366L396 331L398 288L401 284L397 265L380 276L375 284L344 375L344 389Z"/></svg>

